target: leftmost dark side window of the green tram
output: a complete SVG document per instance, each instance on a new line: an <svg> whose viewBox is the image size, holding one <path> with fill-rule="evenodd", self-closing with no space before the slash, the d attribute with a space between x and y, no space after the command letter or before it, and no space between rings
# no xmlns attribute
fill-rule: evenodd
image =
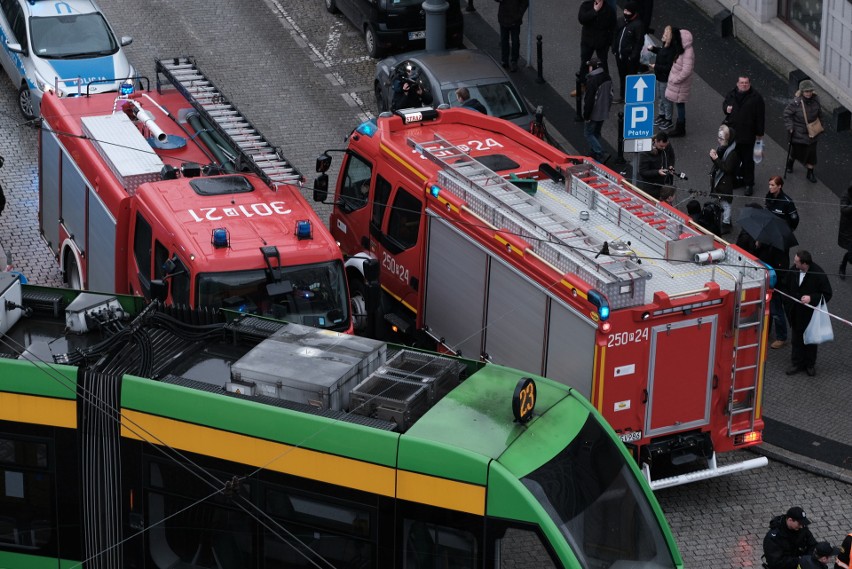
<svg viewBox="0 0 852 569"><path fill-rule="evenodd" d="M40 549L53 538L53 476L45 442L0 437L0 544Z"/></svg>

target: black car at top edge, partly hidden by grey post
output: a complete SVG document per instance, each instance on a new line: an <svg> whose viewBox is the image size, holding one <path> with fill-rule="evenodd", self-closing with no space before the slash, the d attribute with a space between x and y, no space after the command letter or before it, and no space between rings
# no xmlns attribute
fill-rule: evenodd
<svg viewBox="0 0 852 569"><path fill-rule="evenodd" d="M448 1L446 46L461 47L464 39L461 0ZM325 0L325 7L332 14L343 13L364 34L370 57L426 46L423 0Z"/></svg>

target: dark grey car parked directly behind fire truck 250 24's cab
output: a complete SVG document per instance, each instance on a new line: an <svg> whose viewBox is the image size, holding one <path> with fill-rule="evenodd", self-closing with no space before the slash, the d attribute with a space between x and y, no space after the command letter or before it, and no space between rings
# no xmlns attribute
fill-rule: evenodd
<svg viewBox="0 0 852 569"><path fill-rule="evenodd" d="M458 107L456 89L467 87L488 114L528 128L529 109L506 70L494 59L476 49L440 52L414 51L391 56L376 65L374 88L378 111L391 110L394 82L402 77L416 81L432 95L431 105Z"/></svg>

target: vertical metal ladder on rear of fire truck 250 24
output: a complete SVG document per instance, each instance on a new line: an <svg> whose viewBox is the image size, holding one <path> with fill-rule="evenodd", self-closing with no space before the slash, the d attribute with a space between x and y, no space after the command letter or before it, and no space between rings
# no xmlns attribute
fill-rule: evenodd
<svg viewBox="0 0 852 569"><path fill-rule="evenodd" d="M760 297L745 300L748 291ZM752 292L752 294L754 294ZM734 288L734 353L731 358L731 391L728 395L728 434L742 435L754 430L757 412L757 384L760 378L760 350L766 309L766 279L746 280L741 272ZM745 310L747 309L747 310ZM744 314L747 314L744 316ZM748 329L755 334L744 334ZM749 343L743 343L747 336ZM754 341L750 338L754 337ZM743 360L748 363L743 364Z"/></svg>

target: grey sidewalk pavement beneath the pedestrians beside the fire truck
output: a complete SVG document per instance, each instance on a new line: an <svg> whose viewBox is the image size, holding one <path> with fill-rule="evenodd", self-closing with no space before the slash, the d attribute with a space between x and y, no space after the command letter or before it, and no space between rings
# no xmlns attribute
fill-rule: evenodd
<svg viewBox="0 0 852 569"><path fill-rule="evenodd" d="M765 158L757 166L755 195L746 197L742 190L735 192L734 214L746 203L762 203L766 183L771 175L783 175L787 154L787 135L781 113L790 100L788 81L765 63L777 54L754 53L734 38L715 35L713 21L696 4L706 5L713 0L658 0L655 2L652 26L657 34L665 25L689 29L694 37L696 53L695 78L692 96L687 103L687 136L673 139L677 153L677 168L689 175L689 181L678 187L678 203L691 197L707 199L710 161L707 153L715 146L717 127L722 115L724 94L734 88L737 77L748 74L752 85L766 101ZM465 36L479 49L499 57L499 29L496 24L496 2L478 0L477 12L466 12ZM565 8L561 0L538 0L525 19L521 31L522 62L532 61L533 38L542 35L544 83L537 81L537 70L531 66L514 74L514 80L533 105L543 105L548 132L568 153L586 154L587 143L582 123L575 121L575 101L568 94L574 88L575 72L579 68L579 32L576 11L579 4ZM530 32L531 27L531 32ZM529 40L529 41L528 41ZM615 74L615 64L610 59ZM805 70L807 71L807 70ZM604 126L605 152L613 155L607 165L629 175L629 165L616 165L616 115L622 110L613 107L610 120ZM608 147L607 147L608 146ZM632 155L627 155L629 164ZM852 316L850 281L836 276L841 250L836 245L839 218L839 196L852 184L852 133L826 132L819 142L819 161L816 167L817 184L805 181L804 167L796 165L795 172L786 176L784 187L795 200L802 223L796 234L802 248L814 255L815 261L830 275L834 297L829 310L846 320ZM736 239L735 227L727 238ZM791 255L792 257L792 255ZM834 323L835 341L820 347L817 377L787 376L789 345L769 350L764 385L765 444L756 452L775 460L808 469L814 473L852 483L852 415L842 396L852 379L845 357L852 346L852 330ZM770 338L774 339L774 338Z"/></svg>

